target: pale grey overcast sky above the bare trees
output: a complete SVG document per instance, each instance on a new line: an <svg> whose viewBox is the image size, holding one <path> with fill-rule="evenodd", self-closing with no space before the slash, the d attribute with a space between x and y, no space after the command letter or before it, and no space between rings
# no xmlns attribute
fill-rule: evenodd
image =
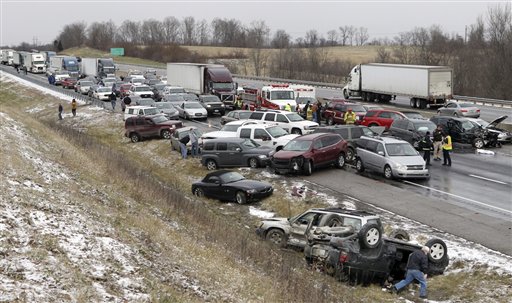
<svg viewBox="0 0 512 303"><path fill-rule="evenodd" d="M142 21L167 16L192 16L208 22L214 18L234 18L244 25L263 20L271 33L284 29L292 37L315 29L324 37L339 26L366 27L373 38L392 39L414 27L439 25L443 31L464 36L466 25L479 16L485 20L489 7L505 1L172 1L172 0L0 0L0 45L21 42L39 44L53 41L64 25L77 21ZM503 4L502 4L503 5Z"/></svg>

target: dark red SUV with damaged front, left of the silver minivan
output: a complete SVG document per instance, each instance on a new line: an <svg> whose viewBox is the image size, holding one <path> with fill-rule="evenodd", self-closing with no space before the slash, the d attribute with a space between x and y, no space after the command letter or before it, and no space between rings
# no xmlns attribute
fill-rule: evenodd
<svg viewBox="0 0 512 303"><path fill-rule="evenodd" d="M345 166L347 141L334 133L317 133L297 137L271 157L276 173L311 175L320 166Z"/></svg>

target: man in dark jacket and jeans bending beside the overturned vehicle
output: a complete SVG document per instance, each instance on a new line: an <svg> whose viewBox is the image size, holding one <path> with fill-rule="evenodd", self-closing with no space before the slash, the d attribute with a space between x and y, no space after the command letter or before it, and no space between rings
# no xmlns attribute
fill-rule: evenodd
<svg viewBox="0 0 512 303"><path fill-rule="evenodd" d="M428 253L430 248L423 246L421 250L413 252L409 256L407 262L407 274L405 279L398 282L391 288L391 292L398 293L414 280L420 283L420 298L427 298L427 269L428 269Z"/></svg>

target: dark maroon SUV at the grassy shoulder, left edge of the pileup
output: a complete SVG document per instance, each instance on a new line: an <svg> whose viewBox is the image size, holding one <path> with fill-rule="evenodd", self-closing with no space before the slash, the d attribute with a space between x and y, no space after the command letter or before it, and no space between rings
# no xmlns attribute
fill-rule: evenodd
<svg viewBox="0 0 512 303"><path fill-rule="evenodd" d="M171 134L182 126L181 121L168 120L163 114L134 116L126 119L124 135L134 143L147 137L170 139Z"/></svg>

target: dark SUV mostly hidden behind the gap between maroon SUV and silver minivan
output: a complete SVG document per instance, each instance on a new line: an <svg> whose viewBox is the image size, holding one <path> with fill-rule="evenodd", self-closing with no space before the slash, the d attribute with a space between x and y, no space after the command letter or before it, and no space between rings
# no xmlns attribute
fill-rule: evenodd
<svg viewBox="0 0 512 303"><path fill-rule="evenodd" d="M367 126L362 125L334 125L315 129L313 133L335 133L347 141L347 154L345 160L352 162L355 159L357 139L361 136L373 137L380 135Z"/></svg>

